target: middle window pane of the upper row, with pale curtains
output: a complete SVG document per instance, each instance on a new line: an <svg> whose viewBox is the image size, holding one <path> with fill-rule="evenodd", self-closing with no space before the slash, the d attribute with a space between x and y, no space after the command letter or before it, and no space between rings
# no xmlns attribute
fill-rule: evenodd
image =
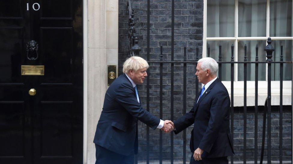
<svg viewBox="0 0 293 164"><path fill-rule="evenodd" d="M238 1L238 36L266 36L267 0Z"/></svg>

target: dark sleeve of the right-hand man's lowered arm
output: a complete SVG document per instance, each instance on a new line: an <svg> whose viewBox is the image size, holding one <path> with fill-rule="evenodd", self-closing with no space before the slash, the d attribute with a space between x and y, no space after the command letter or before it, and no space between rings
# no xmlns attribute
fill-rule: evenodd
<svg viewBox="0 0 293 164"><path fill-rule="evenodd" d="M224 123L225 117L228 114L229 106L230 98L227 92L221 91L215 94L210 107L209 124L198 146L201 150L204 150L207 153L210 152L213 143L218 136L219 128Z"/></svg>

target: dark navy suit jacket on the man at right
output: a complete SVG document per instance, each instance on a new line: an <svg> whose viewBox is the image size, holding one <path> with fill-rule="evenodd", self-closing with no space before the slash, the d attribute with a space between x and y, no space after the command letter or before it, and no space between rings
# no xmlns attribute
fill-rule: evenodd
<svg viewBox="0 0 293 164"><path fill-rule="evenodd" d="M200 95L200 93L199 93ZM230 134L230 98L217 78L203 93L191 111L174 121L175 134L194 124L190 150L204 150L201 157L225 157L234 154Z"/></svg>

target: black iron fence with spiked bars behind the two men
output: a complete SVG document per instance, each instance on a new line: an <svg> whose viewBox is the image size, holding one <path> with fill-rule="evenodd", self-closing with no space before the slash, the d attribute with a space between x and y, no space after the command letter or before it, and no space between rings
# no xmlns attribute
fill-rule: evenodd
<svg viewBox="0 0 293 164"><path fill-rule="evenodd" d="M199 48L196 47L196 59L195 60L186 60L186 47L184 47L184 56L181 60L174 60L174 0L172 1L172 24L171 24L171 60L163 60L163 46L160 47L160 60L154 61L150 60L150 2L148 1L148 7L147 7L147 49L146 49L146 59L149 64L159 64L159 85L160 85L160 91L159 91L159 113L160 118L163 116L163 67L171 66L171 117L170 119L174 121L174 64L182 64L183 65L183 114L186 113L186 79L187 79L187 64L197 65L197 62L199 60ZM131 9L130 1L128 1L128 14L129 14L129 35L128 38L130 40L130 46L129 46L129 56L133 55L139 55L140 47L138 46L138 39L135 33L135 24L133 22L133 10ZM231 65L231 135L232 138L234 138L234 67L235 65L243 65L243 74L244 74L244 94L243 94L243 115L244 115L244 122L243 122L243 163L246 164L246 154L247 154L247 145L246 145L246 134L247 134L247 65L248 64L254 64L255 65L255 110L254 110L254 163L257 164L258 160L260 160L260 163L263 161L264 157L264 148L265 148L265 137L266 137L266 127L267 127L267 163L270 164L272 159L272 144L271 144L271 67L272 64L279 64L280 66L280 103L279 103L279 126L282 127L283 123L283 100L282 100L282 94L283 94L283 65L285 63L291 64L292 67L292 61L283 61L283 46L281 46L281 53L280 55L280 61L273 61L272 60L272 53L275 50L274 47L271 45L272 40L271 38L267 39L267 46L264 47L264 51L266 52L266 61L258 61L258 45L255 46L256 54L255 54L255 61L248 62L247 61L247 53L246 49L247 46L244 47L244 54L243 54L243 62L235 62L234 61L234 46L231 46L231 61L229 62L223 62L222 61L222 47L219 45L219 76L218 78L222 80L222 65L228 64ZM207 46L207 57L210 56L210 47ZM258 65L259 64L267 64L267 100L265 104L258 104ZM147 73L150 75L150 69L147 70ZM199 94L199 85L198 85L198 79L196 79L196 85L195 85L195 91L196 96ZM292 81L292 79L291 79ZM292 87L292 86L291 86ZM292 97L292 91L291 91L291 97ZM261 147L261 155L258 154L258 106L265 106L264 110L264 118L263 118L263 129L262 129L262 147ZM291 104L292 109L292 104ZM147 76L147 84L146 84L146 110L150 111L150 76ZM292 111L292 110L291 110ZM266 119L267 119L267 125L266 125ZM292 114L291 114L291 120L292 120ZM292 122L291 122L292 127ZM174 163L174 134L171 133L171 164ZM279 128L279 163L282 163L282 157L283 157L283 128ZM292 139L292 129L291 129L291 139ZM163 142L162 142L162 131L160 131L159 135L159 163L161 164L163 161ZM233 140L232 140L233 141ZM183 131L183 163L186 163L186 130ZM291 152L293 150L291 149ZM292 154L291 154L292 155ZM137 158L136 158L137 163ZM150 131L149 128L146 128L146 163L150 163ZM231 158L231 163L234 163L233 157Z"/></svg>

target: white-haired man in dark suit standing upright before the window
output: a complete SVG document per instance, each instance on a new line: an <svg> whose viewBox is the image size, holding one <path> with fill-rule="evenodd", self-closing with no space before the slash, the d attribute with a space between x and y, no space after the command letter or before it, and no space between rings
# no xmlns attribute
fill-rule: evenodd
<svg viewBox="0 0 293 164"><path fill-rule="evenodd" d="M230 98L216 76L218 68L212 58L198 61L195 75L204 86L190 112L173 124L175 134L194 124L189 146L193 154L190 164L228 164L227 156L234 154L229 128Z"/></svg>

